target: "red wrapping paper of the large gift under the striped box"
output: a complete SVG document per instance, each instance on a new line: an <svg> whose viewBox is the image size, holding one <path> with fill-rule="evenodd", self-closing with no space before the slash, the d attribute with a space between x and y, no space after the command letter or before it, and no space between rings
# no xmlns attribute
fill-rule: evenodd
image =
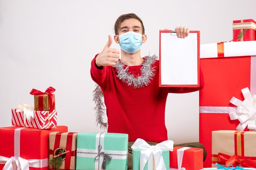
<svg viewBox="0 0 256 170"><path fill-rule="evenodd" d="M14 131L20 126L0 128L0 156L14 156ZM20 130L20 157L24 159L46 159L49 158L49 133L53 131L67 132L67 126L57 126L54 129L39 130L25 128ZM4 164L0 163L0 169ZM44 168L31 168L29 170L48 170Z"/></svg>

